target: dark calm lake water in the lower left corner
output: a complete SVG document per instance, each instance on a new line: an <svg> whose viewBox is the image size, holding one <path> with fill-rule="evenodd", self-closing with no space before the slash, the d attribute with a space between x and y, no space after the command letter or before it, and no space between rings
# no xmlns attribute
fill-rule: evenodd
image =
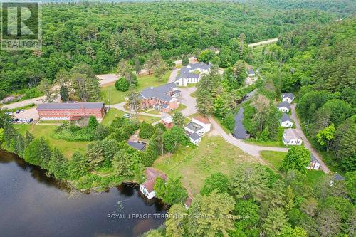
<svg viewBox="0 0 356 237"><path fill-rule="evenodd" d="M84 194L0 151L0 236L140 236L164 223L166 212L139 186Z"/></svg>

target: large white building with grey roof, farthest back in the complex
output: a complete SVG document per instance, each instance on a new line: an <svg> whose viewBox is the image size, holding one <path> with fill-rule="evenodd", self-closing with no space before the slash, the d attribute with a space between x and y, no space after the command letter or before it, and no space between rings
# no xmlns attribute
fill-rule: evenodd
<svg viewBox="0 0 356 237"><path fill-rule="evenodd" d="M210 68L211 64L189 63L186 67L183 67L180 70L179 75L177 75L177 78L175 80L175 83L178 86L187 86L188 84L199 83L201 76L206 73L209 73Z"/></svg>

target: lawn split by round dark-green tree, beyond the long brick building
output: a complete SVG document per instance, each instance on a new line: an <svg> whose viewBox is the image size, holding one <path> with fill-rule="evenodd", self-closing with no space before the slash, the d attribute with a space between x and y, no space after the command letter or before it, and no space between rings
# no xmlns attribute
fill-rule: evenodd
<svg viewBox="0 0 356 237"><path fill-rule="evenodd" d="M164 75L162 81L158 81L158 79L154 75L138 76L137 90L143 90L144 88L147 88L149 86L155 87L167 83L170 73L171 72L169 71L169 73ZM127 92L116 90L115 85L110 85L108 87L100 89L100 97L102 101L109 104L118 104L120 102L125 102L126 94Z"/></svg>

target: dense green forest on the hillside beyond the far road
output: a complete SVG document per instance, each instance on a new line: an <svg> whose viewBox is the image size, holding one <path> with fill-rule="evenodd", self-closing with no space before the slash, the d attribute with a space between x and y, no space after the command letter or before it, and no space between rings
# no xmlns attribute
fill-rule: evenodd
<svg viewBox="0 0 356 237"><path fill-rule="evenodd" d="M154 49L164 60L180 58L227 46L241 34L251 43L335 18L318 9L266 11L263 4L234 2L44 4L41 51L0 51L0 95L36 87L44 78L53 83L60 69L78 63L112 73L122 58L143 65Z"/></svg>

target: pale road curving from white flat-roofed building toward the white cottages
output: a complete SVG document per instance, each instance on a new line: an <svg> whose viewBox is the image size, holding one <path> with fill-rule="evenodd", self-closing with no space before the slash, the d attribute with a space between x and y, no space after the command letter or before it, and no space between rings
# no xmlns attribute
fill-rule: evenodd
<svg viewBox="0 0 356 237"><path fill-rule="evenodd" d="M241 139L237 139L235 137L232 137L232 135L228 135L222 129L222 127L214 120L213 117L209 117L209 121L211 122L212 130L213 130L213 132L215 132L215 134L221 135L221 137L223 137L226 142L229 142L230 144L233 144L234 146L239 147L247 154L251 154L253 157L257 157L258 160L262 164L266 164L266 162L264 162L263 159L261 159L261 157L260 157L261 151L288 152L288 148L261 147L261 146L255 145L255 144L248 144L248 143L242 142Z"/></svg>

